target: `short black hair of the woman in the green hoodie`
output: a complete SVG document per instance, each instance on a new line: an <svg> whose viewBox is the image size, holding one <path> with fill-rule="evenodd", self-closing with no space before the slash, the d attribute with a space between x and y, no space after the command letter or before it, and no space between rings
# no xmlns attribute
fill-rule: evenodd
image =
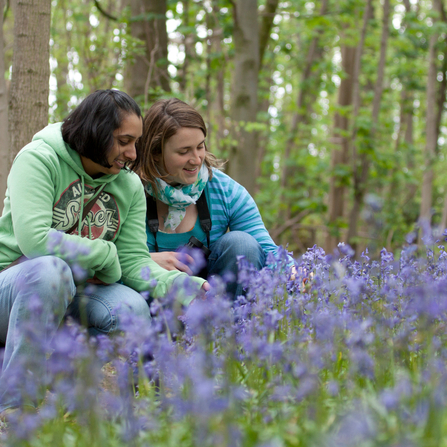
<svg viewBox="0 0 447 447"><path fill-rule="evenodd" d="M127 93L96 90L65 118L62 138L79 155L110 168L107 155L113 147L113 132L129 114L141 118L140 108Z"/></svg>

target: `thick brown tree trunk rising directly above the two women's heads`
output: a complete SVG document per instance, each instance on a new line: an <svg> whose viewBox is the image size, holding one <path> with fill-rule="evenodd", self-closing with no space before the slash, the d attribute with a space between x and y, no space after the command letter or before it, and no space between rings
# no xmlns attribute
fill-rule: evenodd
<svg viewBox="0 0 447 447"><path fill-rule="evenodd" d="M132 37L144 42L144 54L127 66L124 87L143 108L170 92L166 0L130 0Z"/></svg>

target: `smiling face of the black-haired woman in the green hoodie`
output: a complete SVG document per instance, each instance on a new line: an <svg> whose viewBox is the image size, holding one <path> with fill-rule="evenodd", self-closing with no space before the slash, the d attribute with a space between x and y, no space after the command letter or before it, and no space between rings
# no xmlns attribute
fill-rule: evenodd
<svg viewBox="0 0 447 447"><path fill-rule="evenodd" d="M81 155L82 166L90 177L98 174L119 174L126 163L137 158L135 143L143 133L143 121L135 114L125 115L121 126L113 132L113 146L110 149L107 161L110 168Z"/></svg>

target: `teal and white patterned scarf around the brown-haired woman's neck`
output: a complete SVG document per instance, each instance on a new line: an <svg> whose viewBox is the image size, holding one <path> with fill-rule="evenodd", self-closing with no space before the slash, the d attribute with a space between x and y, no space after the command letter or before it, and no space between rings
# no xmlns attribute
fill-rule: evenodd
<svg viewBox="0 0 447 447"><path fill-rule="evenodd" d="M152 197L155 197L160 202L168 205L168 217L165 221L165 230L175 231L180 225L186 214L186 208L193 203L196 203L197 199L205 189L208 181L208 168L205 163L202 164L197 180L192 185L168 185L164 180L155 179L158 187L158 193L156 194L150 183L146 186L146 191Z"/></svg>

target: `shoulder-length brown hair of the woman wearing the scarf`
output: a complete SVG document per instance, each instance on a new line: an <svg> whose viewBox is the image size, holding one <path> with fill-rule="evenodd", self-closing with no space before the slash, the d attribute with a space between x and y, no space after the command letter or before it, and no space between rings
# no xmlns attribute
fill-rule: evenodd
<svg viewBox="0 0 447 447"><path fill-rule="evenodd" d="M182 127L200 129L206 137L205 122L200 113L177 98L158 100L143 119L143 135L137 143L138 157L130 167L140 176L143 183L150 183L155 191L157 190L155 179L161 177L155 157L161 155L164 164L164 144ZM210 179L213 176L211 168L220 168L223 164L208 151L206 145L204 163L208 168Z"/></svg>

